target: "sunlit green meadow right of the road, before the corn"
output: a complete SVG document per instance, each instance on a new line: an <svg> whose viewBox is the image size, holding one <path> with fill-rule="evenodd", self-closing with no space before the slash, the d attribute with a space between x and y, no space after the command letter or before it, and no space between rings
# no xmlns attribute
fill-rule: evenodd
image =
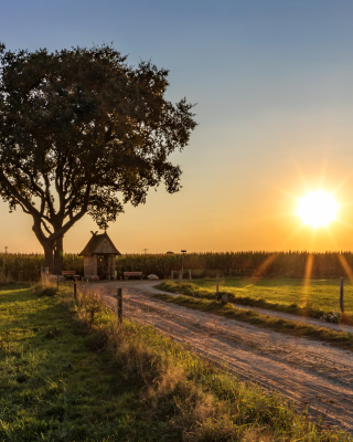
<svg viewBox="0 0 353 442"><path fill-rule="evenodd" d="M214 299L216 297L215 278L183 282L167 281L158 286L160 290L184 294L186 296ZM240 278L220 280L220 291L229 295L231 302L291 313L301 316L322 317L327 312L340 312L340 280L311 280L306 283L297 278ZM344 285L345 320L353 316L353 286Z"/></svg>

